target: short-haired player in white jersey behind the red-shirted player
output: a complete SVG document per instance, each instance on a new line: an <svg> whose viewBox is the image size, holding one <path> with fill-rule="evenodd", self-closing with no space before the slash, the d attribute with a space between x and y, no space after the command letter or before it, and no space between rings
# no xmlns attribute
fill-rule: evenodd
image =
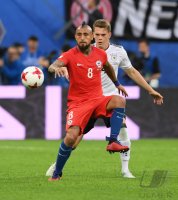
<svg viewBox="0 0 178 200"><path fill-rule="evenodd" d="M93 32L94 32L94 38L95 38L95 46L103 49L106 51L108 56L108 61L113 66L116 75L118 74L118 68L121 67L125 73L134 80L138 85L140 85L142 88L144 88L153 98L154 103L161 105L163 103L163 97L156 92L141 76L141 74L132 66L127 53L125 49L122 46L116 46L110 44L110 37L111 37L111 25L108 21L104 19L96 20L93 25ZM64 76L68 76L67 69L63 72ZM119 95L118 90L115 88L112 81L109 79L109 77L106 75L106 73L102 73L102 87L103 87L103 94L105 96L109 95ZM159 98L156 98L161 96L162 99L159 100ZM89 125L89 128L86 132L88 132L91 128L94 126L95 120L91 120L91 125ZM105 120L105 123L107 124L107 119ZM85 133L86 133L85 132ZM82 136L78 138L78 141L74 145L74 148L79 144L81 141ZM126 122L123 121L123 128L121 128L121 131L119 133L118 140L122 145L129 146L131 145L129 135L127 133L126 128ZM135 178L135 176L132 175L132 173L129 170L129 159L130 159L130 150L126 153L120 153L121 158L121 173L124 178ZM53 174L53 171L55 169L55 163L52 164L49 169L46 172L46 176L51 176Z"/></svg>

